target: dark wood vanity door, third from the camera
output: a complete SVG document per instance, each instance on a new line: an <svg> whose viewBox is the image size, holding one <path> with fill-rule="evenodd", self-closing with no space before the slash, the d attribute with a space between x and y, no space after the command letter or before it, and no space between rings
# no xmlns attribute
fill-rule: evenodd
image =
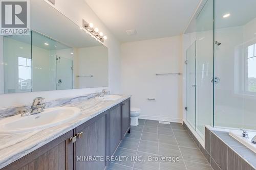
<svg viewBox="0 0 256 170"><path fill-rule="evenodd" d="M110 109L110 155L112 156L118 147L121 137L121 104Z"/></svg>

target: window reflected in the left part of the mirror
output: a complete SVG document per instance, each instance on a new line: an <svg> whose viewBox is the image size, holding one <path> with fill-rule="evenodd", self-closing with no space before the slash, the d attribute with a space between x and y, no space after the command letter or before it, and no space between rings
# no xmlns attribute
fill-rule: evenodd
<svg viewBox="0 0 256 170"><path fill-rule="evenodd" d="M18 57L18 88L20 91L31 91L32 72L31 59Z"/></svg>

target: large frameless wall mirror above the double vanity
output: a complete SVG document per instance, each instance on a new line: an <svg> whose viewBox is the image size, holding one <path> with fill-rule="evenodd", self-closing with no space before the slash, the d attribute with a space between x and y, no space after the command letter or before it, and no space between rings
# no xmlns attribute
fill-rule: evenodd
<svg viewBox="0 0 256 170"><path fill-rule="evenodd" d="M29 35L0 36L0 94L108 86L107 47L44 0L30 20Z"/></svg>

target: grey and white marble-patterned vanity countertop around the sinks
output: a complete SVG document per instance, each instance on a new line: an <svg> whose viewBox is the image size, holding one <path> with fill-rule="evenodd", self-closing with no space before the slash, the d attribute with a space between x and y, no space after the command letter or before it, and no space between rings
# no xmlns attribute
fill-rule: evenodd
<svg viewBox="0 0 256 170"><path fill-rule="evenodd" d="M110 109L111 107L129 99L130 95L121 95L118 100L100 100L91 98L79 102L70 103L61 106L77 107L81 109L81 113L70 120L55 127L47 128L22 134L0 135L0 168L16 161L19 158L35 151L46 143L58 138L59 136L69 132L77 126L87 122L91 118Z"/></svg>

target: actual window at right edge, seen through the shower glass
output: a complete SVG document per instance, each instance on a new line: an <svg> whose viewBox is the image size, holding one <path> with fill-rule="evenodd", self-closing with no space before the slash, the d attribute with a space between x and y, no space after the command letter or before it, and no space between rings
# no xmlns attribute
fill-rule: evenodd
<svg viewBox="0 0 256 170"><path fill-rule="evenodd" d="M256 43L247 47L246 92L256 92Z"/></svg>

